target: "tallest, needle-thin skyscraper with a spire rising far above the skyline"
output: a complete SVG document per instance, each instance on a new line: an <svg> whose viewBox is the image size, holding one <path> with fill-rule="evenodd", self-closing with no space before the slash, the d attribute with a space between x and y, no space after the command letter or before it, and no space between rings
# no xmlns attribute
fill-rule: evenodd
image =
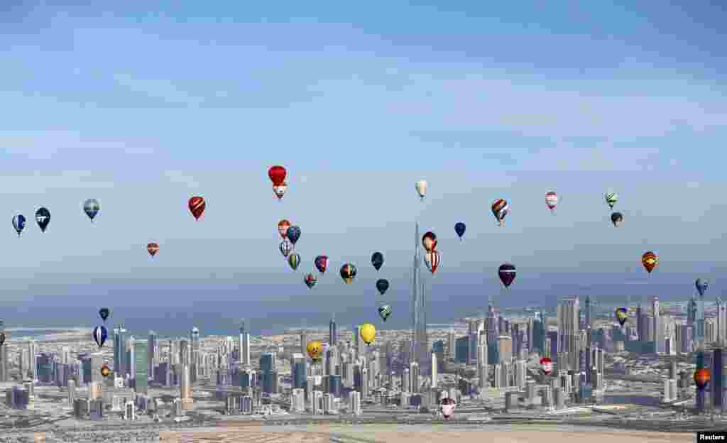
<svg viewBox="0 0 727 443"><path fill-rule="evenodd" d="M414 263L411 268L411 354L410 361L419 364L426 374L430 370L430 348L427 337L427 303L422 280L422 255L419 254L419 223L414 232Z"/></svg>

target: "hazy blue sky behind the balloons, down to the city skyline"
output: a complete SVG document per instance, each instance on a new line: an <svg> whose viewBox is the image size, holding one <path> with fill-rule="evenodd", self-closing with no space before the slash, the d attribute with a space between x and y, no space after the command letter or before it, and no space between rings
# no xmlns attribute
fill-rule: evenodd
<svg viewBox="0 0 727 443"><path fill-rule="evenodd" d="M386 300L405 316L415 219L441 239L431 293L443 306L499 296L505 261L518 267L510 303L589 288L646 297L646 250L660 257L648 295L686 298L696 276L721 293L721 7L213 3L0 6L5 318L94 298L222 318L294 316L301 300L375 315L375 250ZM281 202L272 164L289 170ZM620 195L620 228L606 191ZM207 200L199 222L195 194ZM499 197L505 228L490 212ZM52 213L45 234L40 206ZM16 213L29 222L21 239ZM284 217L302 229L297 273L277 249ZM331 269L308 290L318 254ZM358 266L355 284L337 275L344 261ZM455 302L460 292L472 301Z"/></svg>

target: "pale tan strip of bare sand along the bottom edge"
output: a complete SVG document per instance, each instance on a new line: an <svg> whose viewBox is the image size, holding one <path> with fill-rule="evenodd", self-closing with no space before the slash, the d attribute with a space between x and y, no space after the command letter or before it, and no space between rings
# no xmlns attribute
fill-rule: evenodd
<svg viewBox="0 0 727 443"><path fill-rule="evenodd" d="M169 431L160 434L163 442L251 442L251 443L661 443L694 442L693 434L672 434L647 431L622 431L606 428L553 426L301 426L276 428L220 428L205 431Z"/></svg>

